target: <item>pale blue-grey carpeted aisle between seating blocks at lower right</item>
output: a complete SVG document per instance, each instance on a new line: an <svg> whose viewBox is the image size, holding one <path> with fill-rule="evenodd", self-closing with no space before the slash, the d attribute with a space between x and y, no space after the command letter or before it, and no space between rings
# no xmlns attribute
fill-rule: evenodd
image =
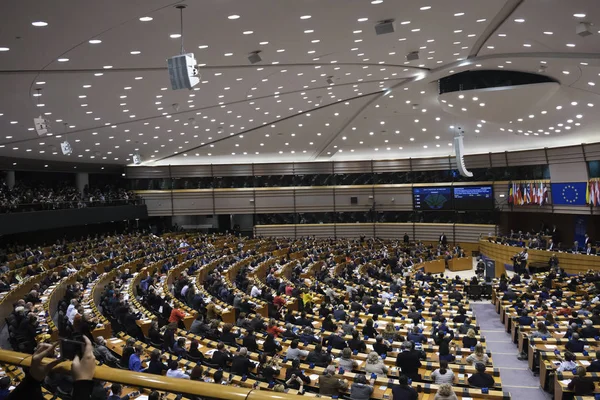
<svg viewBox="0 0 600 400"><path fill-rule="evenodd" d="M471 303L481 334L485 336L487 348L492 352L494 367L500 369L502 388L511 394L512 399L548 400L550 394L540 389L539 377L527 367L527 361L517 359L517 346L489 302Z"/></svg>

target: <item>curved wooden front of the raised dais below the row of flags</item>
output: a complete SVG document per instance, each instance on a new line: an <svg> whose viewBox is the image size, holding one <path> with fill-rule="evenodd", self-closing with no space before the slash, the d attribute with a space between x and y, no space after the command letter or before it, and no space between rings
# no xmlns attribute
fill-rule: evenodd
<svg viewBox="0 0 600 400"><path fill-rule="evenodd" d="M483 255L496 261L496 265L499 263L504 265L512 265L511 257L516 253L522 251L522 247L518 246L507 246L503 244L495 243L494 238L482 239L479 241L479 248ZM558 258L558 265L568 273L578 274L587 270L600 270L600 257L588 256L586 254L572 254L572 253L561 253L558 251L547 251L528 249L529 253L529 264L541 263L548 264L548 260L551 255L556 255ZM497 267L496 267L497 268Z"/></svg>

